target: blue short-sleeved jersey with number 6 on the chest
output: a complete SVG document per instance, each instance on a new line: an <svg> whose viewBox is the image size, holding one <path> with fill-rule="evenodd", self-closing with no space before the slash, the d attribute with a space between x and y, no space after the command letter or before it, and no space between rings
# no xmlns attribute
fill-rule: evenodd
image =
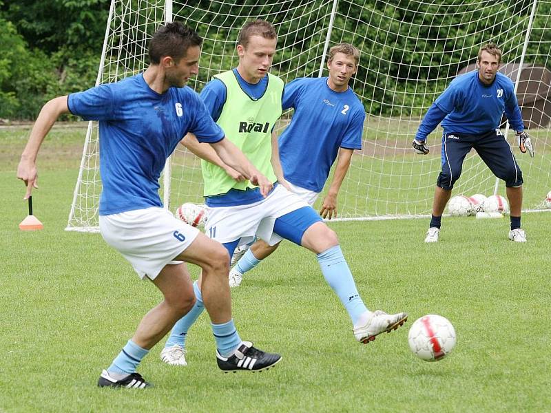
<svg viewBox="0 0 551 413"><path fill-rule="evenodd" d="M193 90L171 87L158 94L141 74L70 94L67 105L99 121L100 215L162 207L160 172L185 134L193 132L200 142L224 138Z"/></svg>

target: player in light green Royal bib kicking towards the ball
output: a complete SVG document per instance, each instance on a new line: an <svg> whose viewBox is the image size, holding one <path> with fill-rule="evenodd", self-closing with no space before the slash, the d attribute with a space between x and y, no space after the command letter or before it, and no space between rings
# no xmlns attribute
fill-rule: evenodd
<svg viewBox="0 0 551 413"><path fill-rule="evenodd" d="M227 137L274 182L274 188L267 198L262 198L253 183L234 180L218 165L216 153L188 134L184 145L212 161L202 161L207 204L205 232L221 242L229 255L238 244L253 240L255 235L271 245L285 238L308 248L316 254L326 281L348 311L358 341L367 343L382 332L396 329L406 321L406 313L388 315L366 308L337 235L307 202L285 187L278 138L272 132L282 114L283 82L268 73L277 43L275 30L266 21L251 21L243 26L237 43L238 67L215 76L202 90L201 97ZM201 279L194 283L194 291L194 308L176 323L161 352L165 363L186 365L185 338L203 310ZM247 367L247 363L242 366Z"/></svg>

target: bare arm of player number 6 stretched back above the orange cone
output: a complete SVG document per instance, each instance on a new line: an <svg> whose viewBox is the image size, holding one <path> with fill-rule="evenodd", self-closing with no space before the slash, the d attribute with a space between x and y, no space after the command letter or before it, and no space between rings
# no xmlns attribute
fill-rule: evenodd
<svg viewBox="0 0 551 413"><path fill-rule="evenodd" d="M59 96L52 100L49 100L41 109L37 121L32 127L29 140L23 153L21 154L21 160L17 166L17 178L25 182L27 191L25 193L24 200L30 197L32 188L38 188L38 171L37 171L37 155L39 153L40 145L52 126L56 122L57 118L61 114L69 112L67 107L67 96Z"/></svg>

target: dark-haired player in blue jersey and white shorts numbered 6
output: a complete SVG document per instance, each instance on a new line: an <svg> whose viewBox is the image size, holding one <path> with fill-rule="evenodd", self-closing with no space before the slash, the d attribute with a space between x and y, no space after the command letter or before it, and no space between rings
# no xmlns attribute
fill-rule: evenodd
<svg viewBox="0 0 551 413"><path fill-rule="evenodd" d="M202 268L202 303L212 321L217 360L225 371L264 370L280 360L241 341L231 318L227 283L229 255L218 242L163 209L158 178L167 157L188 131L208 142L220 158L260 186L272 189L262 175L185 87L198 73L202 40L180 23L160 28L149 43L150 65L142 74L46 103L21 156L17 177L27 185L25 198L37 187L35 161L41 142L60 114L70 112L99 120L103 192L99 205L101 235L125 257L142 279L149 279L164 299L141 320L132 339L103 370L100 387L145 388L136 372L143 357L195 304L184 262ZM116 299L114 297L113 299Z"/></svg>

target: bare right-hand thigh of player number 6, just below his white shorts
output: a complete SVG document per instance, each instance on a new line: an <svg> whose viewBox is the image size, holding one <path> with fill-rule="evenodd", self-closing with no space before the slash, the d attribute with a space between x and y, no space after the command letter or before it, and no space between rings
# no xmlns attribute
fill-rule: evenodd
<svg viewBox="0 0 551 413"><path fill-rule="evenodd" d="M191 242L184 251L176 257L176 260L191 262L203 269L215 269L222 271L229 268L229 254L227 249L207 235L199 233L194 242Z"/></svg>

